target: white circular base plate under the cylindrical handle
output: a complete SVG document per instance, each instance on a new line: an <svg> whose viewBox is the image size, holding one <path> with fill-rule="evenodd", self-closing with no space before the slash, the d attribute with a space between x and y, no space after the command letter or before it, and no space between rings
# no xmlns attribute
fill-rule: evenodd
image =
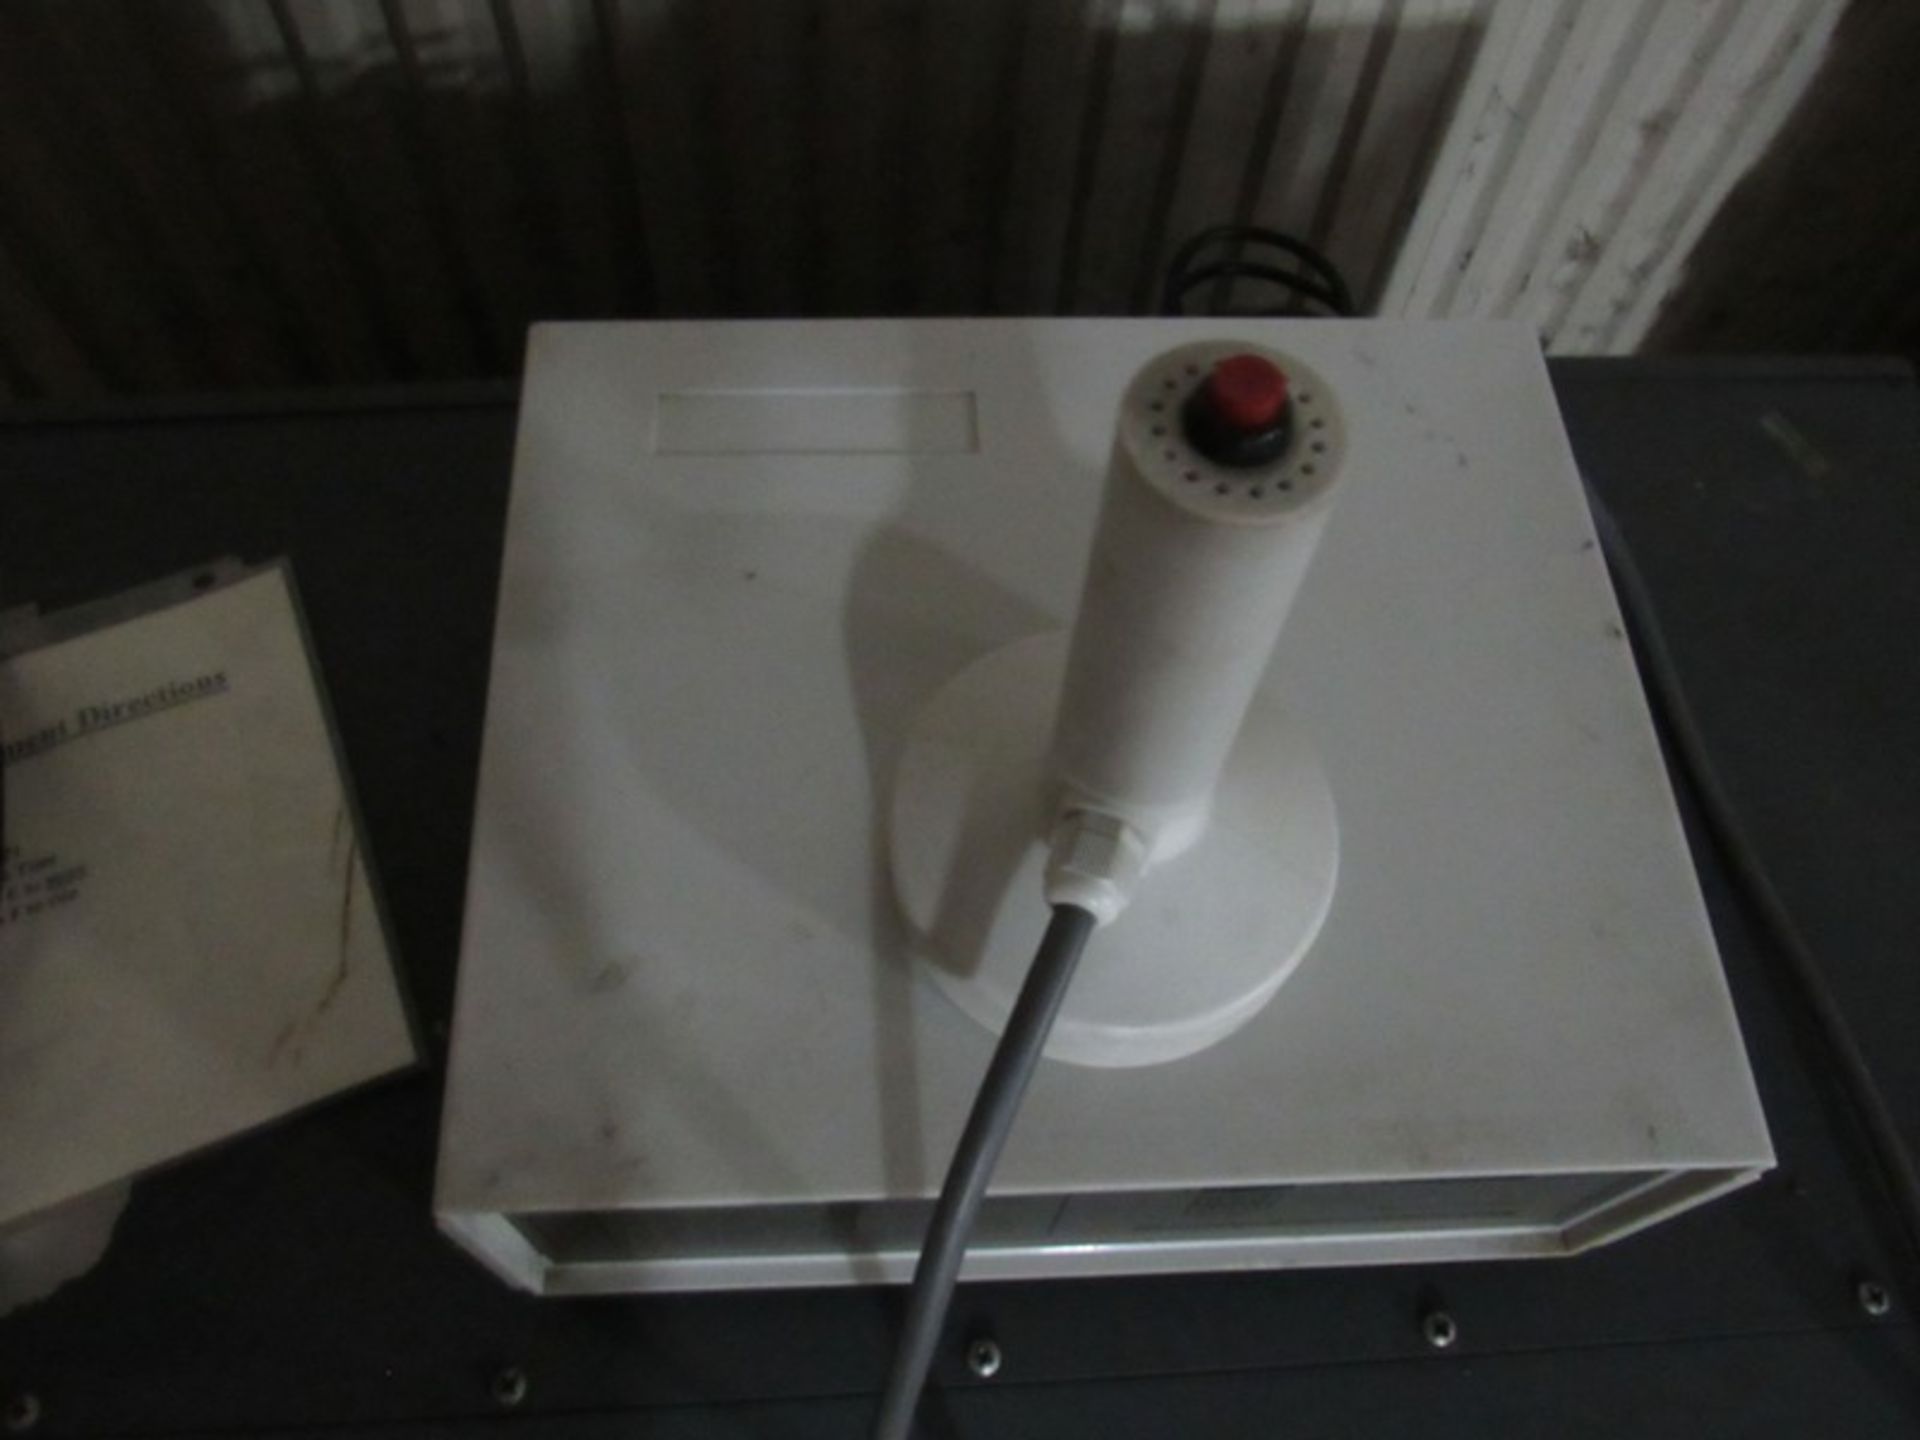
<svg viewBox="0 0 1920 1440"><path fill-rule="evenodd" d="M1046 922L1046 753L1066 636L962 670L920 714L895 776L900 908L952 1000L998 1033ZM1196 845L1154 864L1081 962L1046 1054L1150 1066L1252 1020L1332 904L1340 831L1311 747L1254 699Z"/></svg>

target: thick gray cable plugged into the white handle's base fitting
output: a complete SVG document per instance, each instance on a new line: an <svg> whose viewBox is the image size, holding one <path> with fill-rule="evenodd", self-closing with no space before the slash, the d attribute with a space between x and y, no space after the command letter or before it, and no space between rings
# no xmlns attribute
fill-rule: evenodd
<svg viewBox="0 0 1920 1440"><path fill-rule="evenodd" d="M1020 998L1014 1000L1014 1014L987 1066L987 1079L973 1096L973 1110L947 1167L939 1204L927 1221L927 1238L914 1267L914 1288L906 1298L906 1323L893 1352L887 1388L879 1398L879 1419L874 1421L874 1440L906 1440L912 1434L920 1390L927 1382L927 1371L933 1369L933 1352L947 1323L947 1306L960 1275L960 1260L966 1256L968 1233L979 1215L979 1202L987 1198L987 1181L993 1179L1006 1137L1014 1131L1014 1116L1020 1114L1027 1081L1041 1064L1046 1035L1054 1027L1054 1016L1060 1014L1060 1002L1066 1000L1094 924L1092 914L1077 904L1056 904L1041 948L1033 956L1033 968L1020 987Z"/></svg>

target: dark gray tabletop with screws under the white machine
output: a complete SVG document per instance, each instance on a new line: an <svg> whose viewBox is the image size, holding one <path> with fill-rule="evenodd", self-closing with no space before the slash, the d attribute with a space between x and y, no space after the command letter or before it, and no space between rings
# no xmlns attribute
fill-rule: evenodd
<svg viewBox="0 0 1920 1440"><path fill-rule="evenodd" d="M1920 1142L1920 405L1860 363L1555 365L1741 824ZM440 1060L513 392L0 420L0 609L290 555L432 1064L142 1181L108 1258L0 1321L36 1434L849 1436L899 1296L532 1300L434 1231ZM1693 828L1780 1171L1567 1261L983 1284L933 1432L1907 1436L1897 1231ZM4 1164L4 1160L0 1160ZM1866 1315L1857 1283L1895 1286ZM1459 1342L1434 1352L1423 1308ZM972 1380L958 1336L1006 1363ZM503 1407L501 1367L526 1375Z"/></svg>

